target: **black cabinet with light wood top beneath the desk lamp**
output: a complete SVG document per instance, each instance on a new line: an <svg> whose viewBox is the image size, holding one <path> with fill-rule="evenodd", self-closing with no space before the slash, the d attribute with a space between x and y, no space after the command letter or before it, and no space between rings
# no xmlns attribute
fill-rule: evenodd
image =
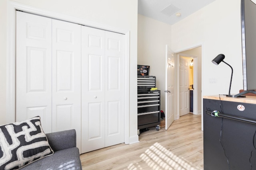
<svg viewBox="0 0 256 170"><path fill-rule="evenodd" d="M256 170L256 98L218 98L203 99L204 170Z"/></svg>

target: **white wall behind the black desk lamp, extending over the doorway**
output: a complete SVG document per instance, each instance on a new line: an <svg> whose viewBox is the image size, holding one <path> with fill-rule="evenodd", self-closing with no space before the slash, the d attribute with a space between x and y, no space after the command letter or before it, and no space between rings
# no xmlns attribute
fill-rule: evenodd
<svg viewBox="0 0 256 170"><path fill-rule="evenodd" d="M233 69L231 94L243 89L240 0L216 0L172 25L172 49L180 51L202 43L203 95L228 94L231 69L224 63L212 64L218 54ZM216 78L216 83L209 80Z"/></svg>

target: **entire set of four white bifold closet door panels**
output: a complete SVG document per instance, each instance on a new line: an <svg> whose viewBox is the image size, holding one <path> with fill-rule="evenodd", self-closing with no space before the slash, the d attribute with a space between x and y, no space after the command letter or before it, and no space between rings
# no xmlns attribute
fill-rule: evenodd
<svg viewBox="0 0 256 170"><path fill-rule="evenodd" d="M82 153L124 143L124 51L123 34L16 12L16 121L76 129Z"/></svg>

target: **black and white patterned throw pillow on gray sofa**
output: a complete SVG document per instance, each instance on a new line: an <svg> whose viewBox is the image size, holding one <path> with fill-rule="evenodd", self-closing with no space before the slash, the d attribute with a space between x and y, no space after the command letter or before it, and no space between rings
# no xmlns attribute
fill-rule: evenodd
<svg viewBox="0 0 256 170"><path fill-rule="evenodd" d="M0 126L0 170L14 170L53 154L40 117Z"/></svg>

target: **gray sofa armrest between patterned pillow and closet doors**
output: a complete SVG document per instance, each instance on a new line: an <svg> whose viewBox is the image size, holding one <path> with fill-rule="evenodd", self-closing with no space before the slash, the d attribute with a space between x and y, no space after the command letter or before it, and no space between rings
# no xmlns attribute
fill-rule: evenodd
<svg viewBox="0 0 256 170"><path fill-rule="evenodd" d="M46 133L49 145L53 151L76 147L76 130Z"/></svg>

